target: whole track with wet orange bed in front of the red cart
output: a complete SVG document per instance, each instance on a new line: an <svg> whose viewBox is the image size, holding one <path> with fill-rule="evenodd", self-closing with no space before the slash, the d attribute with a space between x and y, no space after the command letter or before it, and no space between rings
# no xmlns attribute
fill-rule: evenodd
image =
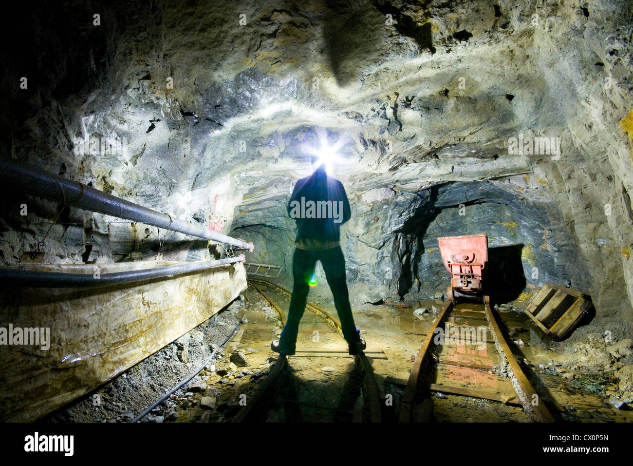
<svg viewBox="0 0 633 466"><path fill-rule="evenodd" d="M415 357L399 421L429 420L429 394L438 391L519 405L530 420L553 422L506 343L489 299L454 301L443 307ZM496 375L498 368L504 368L501 373L507 376Z"/></svg>

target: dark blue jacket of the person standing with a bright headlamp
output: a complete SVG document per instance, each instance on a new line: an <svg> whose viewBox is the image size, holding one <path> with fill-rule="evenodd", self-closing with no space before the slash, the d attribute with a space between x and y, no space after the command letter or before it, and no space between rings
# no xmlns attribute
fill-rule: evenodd
<svg viewBox="0 0 633 466"><path fill-rule="evenodd" d="M348 196L341 181L327 176L323 169L316 170L313 174L297 181L292 191L292 196L288 202L288 214L292 217L292 203L297 201L301 204L301 198L305 198L305 202L313 201L332 201L337 203L337 214L339 214L340 223L335 222L332 216L326 218L301 218L296 217L297 237L295 242L303 238L310 238L326 241L339 241L341 239L339 230L341 225L346 223L351 217ZM339 204L341 201L341 204ZM298 205L298 204L294 204ZM342 207L342 209L340 209Z"/></svg>

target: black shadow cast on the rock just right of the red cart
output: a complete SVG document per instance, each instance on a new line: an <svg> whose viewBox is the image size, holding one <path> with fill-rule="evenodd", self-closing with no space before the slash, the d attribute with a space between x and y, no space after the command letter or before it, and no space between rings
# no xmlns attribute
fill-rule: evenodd
<svg viewBox="0 0 633 466"><path fill-rule="evenodd" d="M514 301L525 289L525 273L521 261L523 244L491 247L484 268L484 290L491 306Z"/></svg>

